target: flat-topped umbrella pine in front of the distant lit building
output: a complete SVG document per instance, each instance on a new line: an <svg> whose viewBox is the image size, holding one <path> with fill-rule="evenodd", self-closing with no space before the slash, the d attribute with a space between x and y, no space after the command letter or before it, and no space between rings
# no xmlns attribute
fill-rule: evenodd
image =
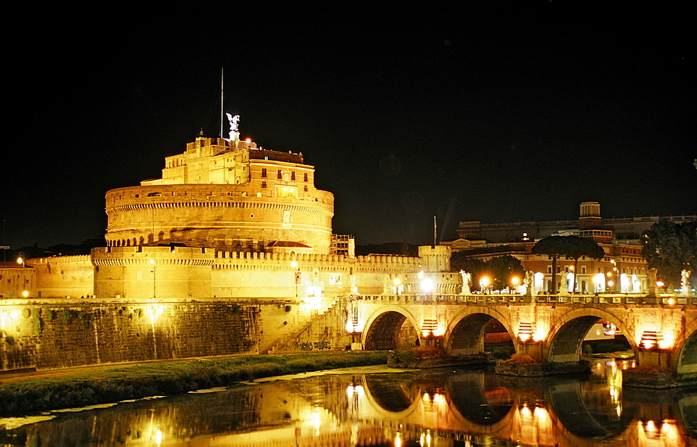
<svg viewBox="0 0 697 447"><path fill-rule="evenodd" d="M579 258L588 256L592 259L602 259L605 251L597 242L579 236L547 236L539 240L532 250L535 255L547 255L552 258L552 294L557 292L557 259L566 256L574 260L574 288L576 290L576 270L579 267Z"/></svg>

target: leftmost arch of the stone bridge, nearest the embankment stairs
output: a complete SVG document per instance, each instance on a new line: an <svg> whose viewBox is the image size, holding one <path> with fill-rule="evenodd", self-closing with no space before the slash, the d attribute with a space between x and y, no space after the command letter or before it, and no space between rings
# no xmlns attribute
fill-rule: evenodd
<svg viewBox="0 0 697 447"><path fill-rule="evenodd" d="M404 323L413 327L416 336L419 324L410 312L399 306L382 306L365 320L363 345L366 350L394 350L399 347L399 331Z"/></svg>

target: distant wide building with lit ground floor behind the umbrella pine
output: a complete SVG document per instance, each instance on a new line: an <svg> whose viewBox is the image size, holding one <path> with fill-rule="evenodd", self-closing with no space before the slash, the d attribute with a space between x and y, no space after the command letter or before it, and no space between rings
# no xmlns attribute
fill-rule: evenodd
<svg viewBox="0 0 697 447"><path fill-rule="evenodd" d="M681 223L697 220L696 216L665 217ZM447 242L454 252L468 257L489 260L496 256L514 256L526 272L533 274L534 287L552 290L552 281L563 292L647 293L654 286L646 260L641 256L641 235L659 217L602 219L597 202L581 203L579 219L567 221L529 221L489 224L483 221L461 221L459 240ZM562 259L557 272L552 272L548 256L532 253L535 240L550 235L576 235L597 242L605 251L602 260L581 258L578 262L574 288L574 260ZM522 279L521 279L522 281Z"/></svg>

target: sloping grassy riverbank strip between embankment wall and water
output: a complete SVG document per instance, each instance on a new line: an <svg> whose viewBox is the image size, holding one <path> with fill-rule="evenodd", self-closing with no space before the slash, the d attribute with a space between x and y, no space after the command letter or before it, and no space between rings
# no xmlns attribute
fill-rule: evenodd
<svg viewBox="0 0 697 447"><path fill-rule="evenodd" d="M69 377L3 384L0 417L186 393L261 377L383 363L387 363L387 352L234 356L114 366Z"/></svg>

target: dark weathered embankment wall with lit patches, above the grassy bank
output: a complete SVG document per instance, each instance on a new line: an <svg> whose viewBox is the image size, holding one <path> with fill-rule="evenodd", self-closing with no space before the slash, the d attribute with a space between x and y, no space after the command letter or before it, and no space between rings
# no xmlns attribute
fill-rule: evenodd
<svg viewBox="0 0 697 447"><path fill-rule="evenodd" d="M6 300L0 304L1 369L254 354L260 314L260 306L229 301Z"/></svg>

